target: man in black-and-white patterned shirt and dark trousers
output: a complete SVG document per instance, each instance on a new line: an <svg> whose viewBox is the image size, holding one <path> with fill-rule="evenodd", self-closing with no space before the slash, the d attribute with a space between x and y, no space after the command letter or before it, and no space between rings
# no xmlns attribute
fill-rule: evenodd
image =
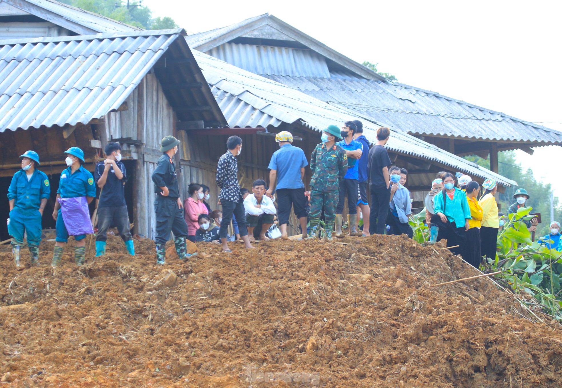
<svg viewBox="0 0 562 388"><path fill-rule="evenodd" d="M223 219L220 223L219 236L223 243L223 252L232 252L228 248L226 233L232 219L232 214L238 221L240 237L244 241L246 248L253 248L248 238L246 228L246 211L244 202L240 195L240 185L238 184L238 162L236 156L242 152L242 139L238 136L230 136L226 141L228 151L220 157L216 168L216 185L220 187L219 203L223 206Z"/></svg>

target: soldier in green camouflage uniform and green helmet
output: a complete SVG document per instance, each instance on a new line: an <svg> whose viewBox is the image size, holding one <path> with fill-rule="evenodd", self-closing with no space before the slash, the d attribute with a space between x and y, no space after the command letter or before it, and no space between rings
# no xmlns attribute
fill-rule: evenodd
<svg viewBox="0 0 562 388"><path fill-rule="evenodd" d="M324 206L325 238L332 240L336 206L339 198L339 181L347 172L347 156L342 147L336 144L341 140L341 130L337 125L328 125L322 133L322 142L314 148L310 157L310 237L318 239L320 213Z"/></svg>

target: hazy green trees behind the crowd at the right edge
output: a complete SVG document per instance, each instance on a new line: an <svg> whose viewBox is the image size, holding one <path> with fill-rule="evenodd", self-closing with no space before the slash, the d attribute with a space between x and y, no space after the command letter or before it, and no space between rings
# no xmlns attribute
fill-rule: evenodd
<svg viewBox="0 0 562 388"><path fill-rule="evenodd" d="M479 156L465 156L482 167L490 169L490 160L482 159ZM505 193L500 193L498 206L501 205L503 213L507 213L507 208L515 202L513 193L518 188L524 188L529 193L527 205L533 207L533 213L541 213L542 223L537 226L536 236L545 236L550 229L550 194L552 186L550 183L543 183L537 179L533 170L524 168L517 160L515 151L498 152L498 173L506 178L517 182L519 186L507 187ZM554 220L562 222L562 206L558 197L554 197Z"/></svg>

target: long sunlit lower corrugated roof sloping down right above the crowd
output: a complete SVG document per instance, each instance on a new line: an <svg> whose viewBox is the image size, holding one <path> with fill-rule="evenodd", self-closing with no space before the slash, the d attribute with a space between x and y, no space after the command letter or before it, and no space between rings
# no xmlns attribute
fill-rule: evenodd
<svg viewBox="0 0 562 388"><path fill-rule="evenodd" d="M287 85L226 64L205 53L194 51L193 55L207 82L212 85L221 109L223 106L228 106L228 109L223 109L223 114L231 127L253 127L255 121L252 120L255 120L258 111L262 123L269 122L273 126L278 126L282 122L294 123L318 132L330 124L339 125L355 116L347 110L329 105ZM225 98L228 98L226 102ZM364 119L364 116L359 116ZM377 123L364 120L364 135L371 143L376 142L376 130L379 126ZM510 179L406 133L393 131L387 148L398 154L437 161L482 179L492 177L504 186L516 184Z"/></svg>

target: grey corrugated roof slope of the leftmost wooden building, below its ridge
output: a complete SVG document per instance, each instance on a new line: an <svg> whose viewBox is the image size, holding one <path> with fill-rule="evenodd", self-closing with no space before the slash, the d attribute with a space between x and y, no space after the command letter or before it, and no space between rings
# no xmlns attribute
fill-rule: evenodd
<svg viewBox="0 0 562 388"><path fill-rule="evenodd" d="M101 118L182 31L0 41L0 132Z"/></svg>

